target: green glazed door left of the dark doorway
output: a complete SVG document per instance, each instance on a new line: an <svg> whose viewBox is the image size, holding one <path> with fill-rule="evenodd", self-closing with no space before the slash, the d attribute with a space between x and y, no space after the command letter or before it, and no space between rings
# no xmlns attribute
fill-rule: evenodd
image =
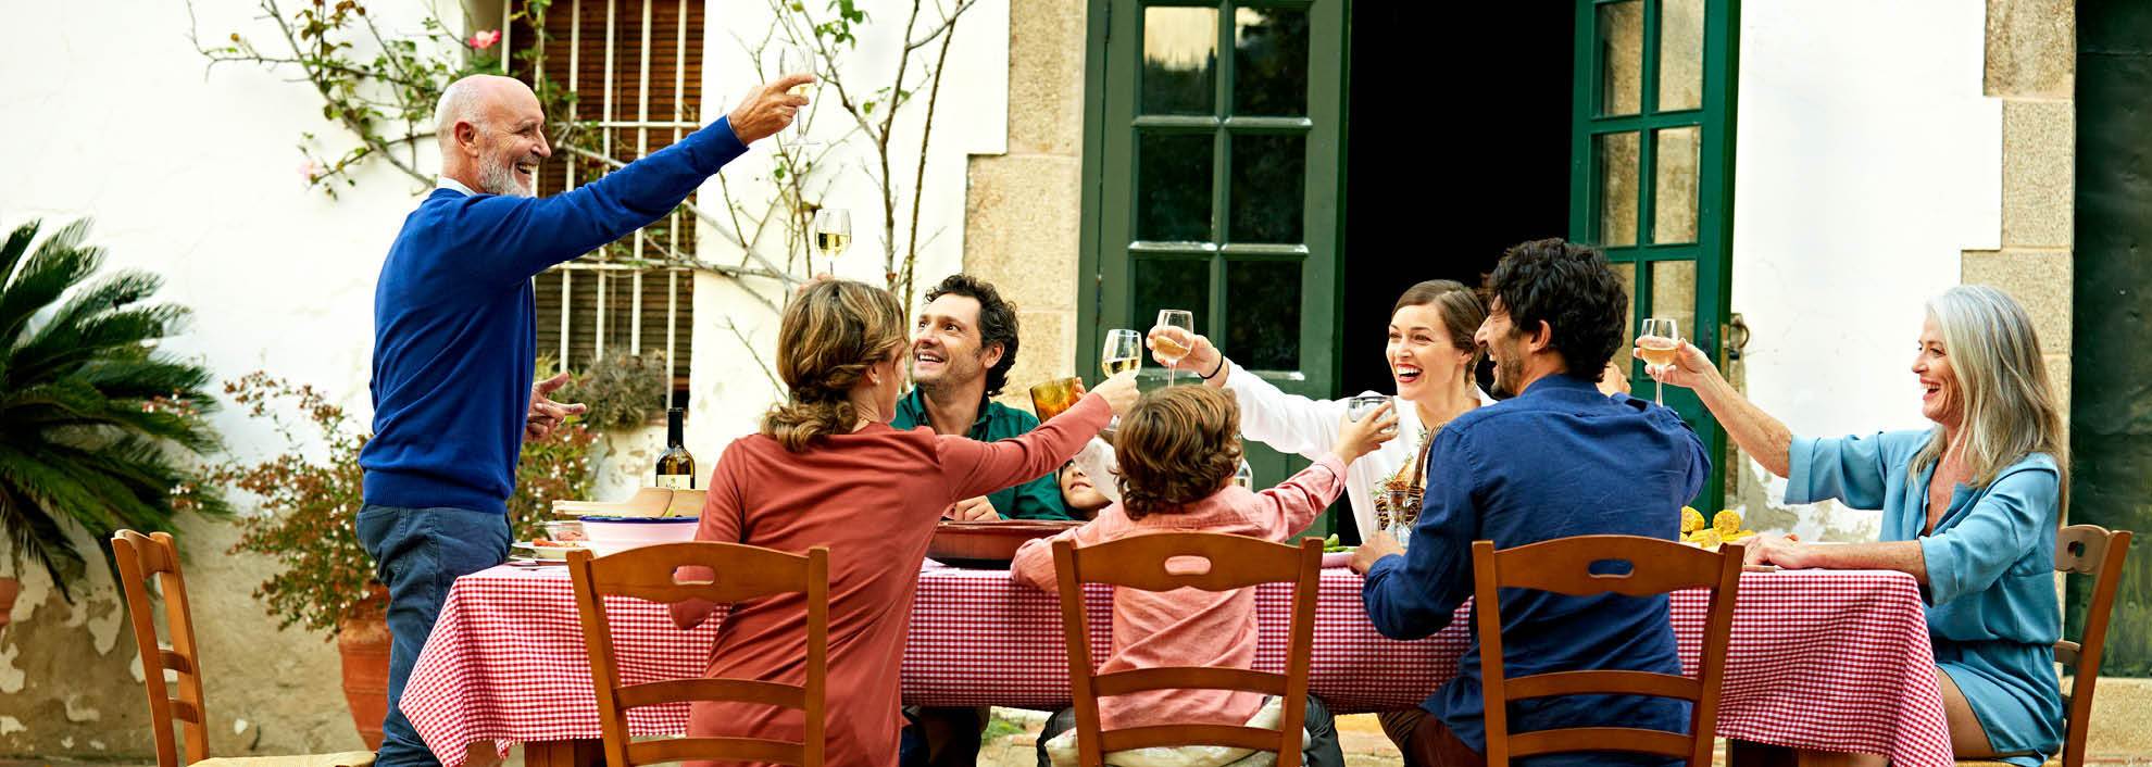
<svg viewBox="0 0 2152 767"><path fill-rule="evenodd" d="M1080 367L1188 309L1257 376L1332 395L1345 0L1091 0L1089 28ZM1304 464L1248 462L1259 486Z"/></svg>

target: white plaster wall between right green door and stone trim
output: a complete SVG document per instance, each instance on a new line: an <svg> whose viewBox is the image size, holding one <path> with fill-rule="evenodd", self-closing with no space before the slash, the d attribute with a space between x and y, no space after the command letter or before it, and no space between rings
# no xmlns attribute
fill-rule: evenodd
<svg viewBox="0 0 2152 767"><path fill-rule="evenodd" d="M1956 0L1741 4L1732 312L1754 331L1750 397L1795 434L1928 423L1909 372L1922 301L2001 236L1984 24ZM1872 537L1877 513L1797 520L1803 537Z"/></svg>

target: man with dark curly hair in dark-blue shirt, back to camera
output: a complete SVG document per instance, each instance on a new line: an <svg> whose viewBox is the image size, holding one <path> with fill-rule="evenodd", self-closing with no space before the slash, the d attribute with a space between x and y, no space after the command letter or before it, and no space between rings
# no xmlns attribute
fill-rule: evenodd
<svg viewBox="0 0 2152 767"><path fill-rule="evenodd" d="M1429 636L1472 595L1472 541L1515 548L1571 535L1674 539L1681 505L1711 471L1704 445L1674 410L1603 395L1599 372L1623 342L1629 294L1605 256L1558 238L1511 247L1487 277L1476 342L1496 389L1515 393L1435 434L1410 552L1373 537L1354 554L1362 602L1390 638ZM1668 599L1502 591L1504 662L1513 677L1554 670L1681 672ZM1478 765L1485 752L1478 640L1457 679L1420 711L1388 718L1412 765ZM1644 696L1554 696L1511 703L1511 730L1642 726L1681 733L1687 705ZM1640 754L1582 752L1524 765L1659 765Z"/></svg>

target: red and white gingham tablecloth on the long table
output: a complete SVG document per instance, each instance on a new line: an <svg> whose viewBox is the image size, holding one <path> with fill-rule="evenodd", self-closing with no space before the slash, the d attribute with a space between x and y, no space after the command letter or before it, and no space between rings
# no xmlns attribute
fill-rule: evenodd
<svg viewBox="0 0 2152 767"><path fill-rule="evenodd" d="M1259 670L1283 670L1291 587L1257 593ZM1108 645L1106 587L1091 587L1091 647ZM1403 709L1457 675L1470 604L1416 642L1382 638L1360 608L1360 576L1326 569L1315 617L1313 692L1332 711ZM663 606L609 597L624 683L697 677L717 621L674 627ZM1704 593L1674 595L1674 632L1689 675L1704 629ZM1100 662L1098 657L1093 662ZM1790 748L1887 754L1898 765L1950 765L1943 698L1920 589L1896 571L1756 571L1741 578L1719 692L1717 735ZM919 571L904 700L915 705L1067 705L1059 599L1007 571ZM562 567L495 567L456 580L405 688L402 711L448 767L469 743L598 739L598 703L575 595ZM635 735L676 735L686 705L628 713Z"/></svg>

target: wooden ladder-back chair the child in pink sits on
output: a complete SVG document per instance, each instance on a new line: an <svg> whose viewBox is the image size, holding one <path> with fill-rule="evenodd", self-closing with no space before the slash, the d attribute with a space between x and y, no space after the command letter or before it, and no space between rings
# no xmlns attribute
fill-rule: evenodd
<svg viewBox="0 0 2152 767"><path fill-rule="evenodd" d="M1201 556L1207 569L1169 563L1177 556ZM1272 544L1222 533L1156 533L1076 548L1054 541L1054 576L1061 582L1061 627L1067 634L1070 685L1076 703L1076 756L1082 767L1104 767L1108 752L1151 746L1229 746L1278 754L1278 767L1300 767L1300 737L1308 709L1308 664L1315 649L1315 595L1321 589L1323 541L1300 546ZM1293 582L1291 638L1285 645L1285 672L1270 675L1244 668L1171 666L1136 668L1110 675L1091 670L1091 621L1085 614L1082 584L1104 582L1121 589L1233 591L1263 582ZM1102 730L1098 698L1143 690L1248 690L1278 696L1283 718L1276 730L1231 724L1128 726Z"/></svg>

